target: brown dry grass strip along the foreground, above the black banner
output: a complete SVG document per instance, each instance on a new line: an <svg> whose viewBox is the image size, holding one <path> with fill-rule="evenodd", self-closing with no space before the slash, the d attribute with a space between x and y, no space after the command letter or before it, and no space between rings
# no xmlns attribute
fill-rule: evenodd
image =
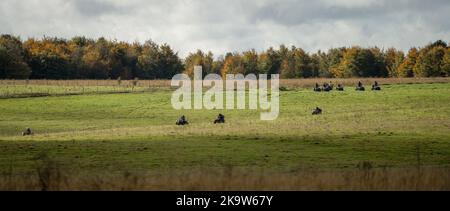
<svg viewBox="0 0 450 211"><path fill-rule="evenodd" d="M54 164L53 164L54 165ZM130 173L83 175L62 173L56 166L37 169L36 175L3 176L0 190L164 190L164 191L249 191L249 190L450 190L450 169L364 169L299 170L266 173L233 168L191 170L159 174Z"/></svg>

